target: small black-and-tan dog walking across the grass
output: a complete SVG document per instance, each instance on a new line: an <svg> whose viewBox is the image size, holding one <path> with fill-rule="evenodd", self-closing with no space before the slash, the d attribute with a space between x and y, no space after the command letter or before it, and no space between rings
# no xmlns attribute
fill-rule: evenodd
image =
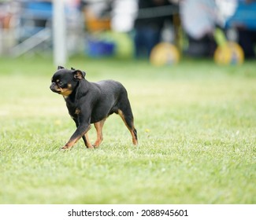
<svg viewBox="0 0 256 220"><path fill-rule="evenodd" d="M102 127L106 118L117 113L132 134L132 142L138 144L137 131L133 125L132 108L124 86L113 80L102 80L90 83L85 72L74 68L65 69L61 66L54 73L50 90L61 94L66 101L69 115L76 123L76 131L62 149L72 148L80 138L83 138L87 148L98 148L101 144ZM95 124L97 140L91 145L87 131Z"/></svg>

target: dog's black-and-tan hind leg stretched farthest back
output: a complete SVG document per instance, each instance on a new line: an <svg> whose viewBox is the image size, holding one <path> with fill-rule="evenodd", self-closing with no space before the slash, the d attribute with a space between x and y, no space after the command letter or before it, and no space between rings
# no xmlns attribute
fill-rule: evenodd
<svg viewBox="0 0 256 220"><path fill-rule="evenodd" d="M117 113L119 116L121 116L121 119L123 119L125 126L131 132L133 145L138 145L137 130L135 130L133 124L132 108L130 107L130 105L127 105L124 110L118 109Z"/></svg>

